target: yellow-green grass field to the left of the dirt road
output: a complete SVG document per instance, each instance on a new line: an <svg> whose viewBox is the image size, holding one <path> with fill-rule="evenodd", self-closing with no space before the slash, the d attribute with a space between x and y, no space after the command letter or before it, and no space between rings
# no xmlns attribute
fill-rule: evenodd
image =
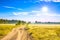
<svg viewBox="0 0 60 40"><path fill-rule="evenodd" d="M0 38L7 35L14 27L15 24L0 24Z"/></svg>

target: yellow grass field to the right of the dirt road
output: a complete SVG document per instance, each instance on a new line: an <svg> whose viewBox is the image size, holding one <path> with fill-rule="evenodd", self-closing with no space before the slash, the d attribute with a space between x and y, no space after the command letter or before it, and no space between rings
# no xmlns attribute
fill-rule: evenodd
<svg viewBox="0 0 60 40"><path fill-rule="evenodd" d="M60 24L30 24L29 28L34 40L60 40Z"/></svg>

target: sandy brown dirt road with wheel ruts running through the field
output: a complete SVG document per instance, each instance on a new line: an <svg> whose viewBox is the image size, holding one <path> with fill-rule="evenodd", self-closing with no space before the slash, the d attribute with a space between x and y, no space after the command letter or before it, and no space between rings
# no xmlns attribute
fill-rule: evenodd
<svg viewBox="0 0 60 40"><path fill-rule="evenodd" d="M8 35L1 40L32 40L25 27L14 28Z"/></svg>

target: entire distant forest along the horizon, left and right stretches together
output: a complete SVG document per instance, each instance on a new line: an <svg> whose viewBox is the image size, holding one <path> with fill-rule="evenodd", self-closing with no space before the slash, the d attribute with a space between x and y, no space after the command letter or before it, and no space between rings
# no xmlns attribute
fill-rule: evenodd
<svg viewBox="0 0 60 40"><path fill-rule="evenodd" d="M21 24L21 23L26 23L26 21L22 20L7 20L7 19L0 19L0 24ZM28 22L31 23L31 22ZM35 21L35 24L60 24L60 22L38 22Z"/></svg>

